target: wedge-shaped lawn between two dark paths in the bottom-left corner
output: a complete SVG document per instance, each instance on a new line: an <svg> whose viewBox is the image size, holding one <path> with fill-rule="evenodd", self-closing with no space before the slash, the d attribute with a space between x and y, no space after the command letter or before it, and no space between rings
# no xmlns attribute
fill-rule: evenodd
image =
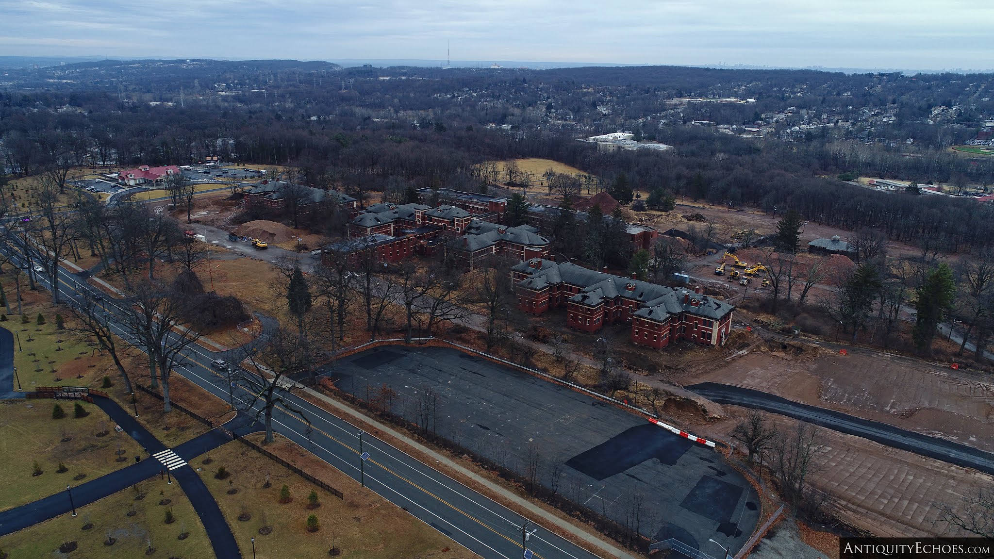
<svg viewBox="0 0 994 559"><path fill-rule="evenodd" d="M128 488L88 505L78 507L76 518L63 514L47 522L36 524L0 538L0 549L10 559L37 557L72 557L74 559L133 559L142 557L151 540L155 554L152 557L182 557L183 559L212 559L215 557L207 532L197 513L183 493L179 483L144 481L138 487L145 498L134 500L135 492ZM159 494L159 491L163 494ZM168 506L159 501L169 498ZM133 508L135 514L127 516ZM165 523L166 509L172 509L175 521ZM93 526L83 530L83 524ZM189 536L177 539L183 532ZM104 545L107 534L116 541ZM59 552L64 542L75 541L78 548L69 554ZM249 553L251 551L249 550Z"/></svg>

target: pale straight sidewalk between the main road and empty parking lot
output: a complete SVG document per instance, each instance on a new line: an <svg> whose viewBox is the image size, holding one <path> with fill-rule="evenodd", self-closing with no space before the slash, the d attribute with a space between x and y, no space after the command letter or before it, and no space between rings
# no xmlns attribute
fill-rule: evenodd
<svg viewBox="0 0 994 559"><path fill-rule="evenodd" d="M378 422L377 420L372 419L372 418L370 418L370 417L368 417L366 415L363 415L360 412L357 412L357 411L353 410L352 408L346 406L345 404L342 404L342 403L338 402L337 400L329 398L328 396L325 396L324 394L321 394L321 393L319 393L319 392L317 392L317 391L315 391L313 389L302 387L302 390L304 392L306 392L308 395L313 396L314 398L317 398L317 399L321 400L322 402L324 402L324 403L326 403L326 404L334 407L335 409L337 409L337 410L339 410L341 412L344 412L345 414L347 414L347 415L349 415L349 416L351 416L351 417L353 417L353 418L355 418L355 419L357 419L359 421L367 423L367 424L375 427L376 429L378 429L378 430L380 430L380 431L382 431L382 432L390 435L391 437L394 437L395 439L397 439L397 440L405 443L406 445L408 445L410 447L413 447L414 449L417 449L419 452L423 453L425 456L433 459L436 463L440 463L440 464L443 464L445 466L451 467L452 469L458 471L460 474L462 474L462 475L464 475L464 476L472 479L474 482L479 483L480 485L483 485L484 487L487 488L487 490L491 491L492 493L496 493L500 497L502 497L502 498L504 498L506 500L514 502L515 504L517 504L521 508L527 510L530 514L534 515L534 517L541 518L546 523L556 525L558 528L560 528L561 530L569 533L574 538L576 538L578 540L581 540L581 541L584 541L584 542L587 542L590 545L593 545L593 546L595 546L596 548L598 548L600 550L606 551L607 553L609 553L613 557L619 557L621 559L635 559L627 551L625 551L625 550L617 547L616 545L614 545L614 544L612 544L612 543L610 543L608 541L605 541L605 540L601 539L600 537L594 535L591 532L588 532L586 530L581 529L578 526L575 526L572 522L568 522L568 521L560 518L559 516L557 516L557 515L549 512L549 511L545 510L544 508L541 508L541 507L535 505L534 503L532 503L528 499L522 498L522 497L518 496L517 494L509 491L508 489L505 489L504 487L501 487L500 485L497 485L496 483L494 483L494 482L490 481L489 479L487 479L487 478L479 475L478 473L476 473L476 472L474 472L474 471L472 471L470 469L467 469L465 466L462 466L462 465L460 465L458 463L455 463L455 462L451 461L450 459L448 459L448 457L446 457L446 456L444 456L444 455L442 455L440 453L437 453L437 452L429 449L428 447L425 447L425 446L423 446L423 445L415 442L413 439L411 439L407 435L405 435L405 434L403 434L403 433L395 430L394 428L389 427L387 425L384 425L384 424Z"/></svg>

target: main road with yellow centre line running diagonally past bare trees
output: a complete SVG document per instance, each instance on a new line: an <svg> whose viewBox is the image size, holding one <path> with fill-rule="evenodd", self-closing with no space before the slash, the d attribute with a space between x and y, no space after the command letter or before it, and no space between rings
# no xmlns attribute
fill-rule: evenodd
<svg viewBox="0 0 994 559"><path fill-rule="evenodd" d="M11 251L9 247L4 250ZM39 276L39 282L51 288L49 280ZM84 280L65 270L60 274L59 288L65 294L67 304L78 303L79 297L91 292ZM117 301L108 299L104 304L114 332L127 340L126 332L117 320L120 313ZM209 366L219 357L222 355L193 347L186 353L186 366L177 367L175 373L228 400L227 377ZM234 396L242 401L249 401L251 397L242 386L234 388ZM273 430L358 480L359 429L292 392L282 396L291 406L304 412L311 427L296 415L277 407L273 414ZM370 455L364 469L366 486L371 490L406 508L415 517L482 557L516 559L522 556L520 526L526 521L523 516L370 434L363 436L363 451ZM536 557L546 559L596 557L541 525L528 542L528 548Z"/></svg>

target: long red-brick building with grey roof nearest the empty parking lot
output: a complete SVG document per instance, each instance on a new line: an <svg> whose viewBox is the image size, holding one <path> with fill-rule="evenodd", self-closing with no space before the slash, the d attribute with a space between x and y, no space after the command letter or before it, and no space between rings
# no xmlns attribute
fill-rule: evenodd
<svg viewBox="0 0 994 559"><path fill-rule="evenodd" d="M630 323L632 343L658 349L677 340L722 345L732 328L735 307L700 288L667 287L545 259L522 262L511 273L521 310L542 314L565 306L567 325L586 332Z"/></svg>

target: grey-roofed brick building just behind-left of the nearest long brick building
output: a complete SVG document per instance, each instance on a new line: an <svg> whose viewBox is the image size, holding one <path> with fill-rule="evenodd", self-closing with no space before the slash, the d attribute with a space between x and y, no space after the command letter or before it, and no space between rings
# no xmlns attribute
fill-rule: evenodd
<svg viewBox="0 0 994 559"><path fill-rule="evenodd" d="M475 220L469 223L462 237L448 242L456 265L467 271L488 265L496 255L519 261L548 258L550 245L549 239L530 225L508 227Z"/></svg>

